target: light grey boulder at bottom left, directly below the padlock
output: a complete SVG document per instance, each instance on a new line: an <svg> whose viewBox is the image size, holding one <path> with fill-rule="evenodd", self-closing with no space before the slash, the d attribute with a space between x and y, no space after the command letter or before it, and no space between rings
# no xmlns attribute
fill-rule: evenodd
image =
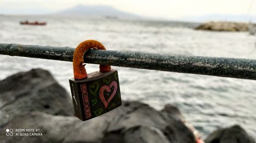
<svg viewBox="0 0 256 143"><path fill-rule="evenodd" d="M95 118L88 122L82 122L78 118L70 116L55 116L41 112L32 111L29 115L16 116L5 126L20 129L40 129L42 136L13 136L6 137L1 131L0 136L5 137L6 142L101 142L108 122L104 118ZM24 133L24 132L15 132ZM26 132L25 132L26 133ZM28 132L30 133L30 132Z"/></svg>

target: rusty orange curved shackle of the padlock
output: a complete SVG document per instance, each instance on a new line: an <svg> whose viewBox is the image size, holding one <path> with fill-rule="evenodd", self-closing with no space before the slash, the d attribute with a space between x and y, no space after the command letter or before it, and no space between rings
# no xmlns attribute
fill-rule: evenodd
<svg viewBox="0 0 256 143"><path fill-rule="evenodd" d="M96 40L86 40L80 43L73 54L73 69L74 69L74 78L75 79L83 79L87 78L86 68L84 68L83 55L87 50L91 48L97 48L101 50L105 50L106 48ZM100 72L109 72L111 70L111 66L109 65L99 65Z"/></svg>

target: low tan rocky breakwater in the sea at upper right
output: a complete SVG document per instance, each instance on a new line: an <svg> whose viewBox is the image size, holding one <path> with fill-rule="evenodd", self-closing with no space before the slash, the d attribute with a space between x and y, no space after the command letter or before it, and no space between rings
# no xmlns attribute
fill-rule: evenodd
<svg viewBox="0 0 256 143"><path fill-rule="evenodd" d="M241 22L207 22L196 27L196 30L209 30L209 31L230 31L230 32L246 32L252 24Z"/></svg>

